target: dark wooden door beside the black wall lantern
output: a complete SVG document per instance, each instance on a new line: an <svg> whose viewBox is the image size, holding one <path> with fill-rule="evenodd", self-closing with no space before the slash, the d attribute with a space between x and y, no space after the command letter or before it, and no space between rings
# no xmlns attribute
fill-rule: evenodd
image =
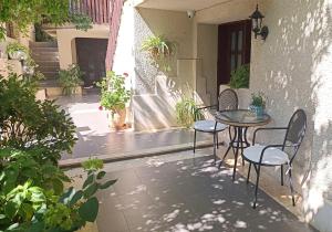
<svg viewBox="0 0 332 232"><path fill-rule="evenodd" d="M218 29L218 89L228 84L231 71L250 63L251 21L220 24Z"/></svg>

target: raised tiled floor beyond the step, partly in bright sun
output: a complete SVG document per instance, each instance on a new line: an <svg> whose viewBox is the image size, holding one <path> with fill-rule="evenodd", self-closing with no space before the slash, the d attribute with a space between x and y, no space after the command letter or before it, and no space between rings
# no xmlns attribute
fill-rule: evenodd
<svg viewBox="0 0 332 232"><path fill-rule="evenodd" d="M98 95L60 97L58 103L73 118L77 143L72 155L62 159L90 156L117 157L137 150L163 148L193 143L194 133L187 129L172 129L156 133L111 131L105 110L98 110ZM198 134L198 141L211 141L211 136Z"/></svg>

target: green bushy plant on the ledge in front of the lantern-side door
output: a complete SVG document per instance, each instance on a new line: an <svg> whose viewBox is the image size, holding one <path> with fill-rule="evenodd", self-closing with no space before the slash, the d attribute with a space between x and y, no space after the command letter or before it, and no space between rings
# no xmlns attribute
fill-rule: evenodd
<svg viewBox="0 0 332 232"><path fill-rule="evenodd" d="M230 74L229 85L231 88L248 88L249 87L250 67L249 64L239 66Z"/></svg>

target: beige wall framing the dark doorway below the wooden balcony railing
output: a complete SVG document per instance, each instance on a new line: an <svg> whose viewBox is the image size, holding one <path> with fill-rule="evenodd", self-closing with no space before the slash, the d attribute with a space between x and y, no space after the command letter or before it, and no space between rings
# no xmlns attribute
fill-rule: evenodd
<svg viewBox="0 0 332 232"><path fill-rule="evenodd" d="M66 68L76 62L75 38L108 39L108 25L93 25L93 28L86 32L75 29L58 29L56 39L60 68Z"/></svg>

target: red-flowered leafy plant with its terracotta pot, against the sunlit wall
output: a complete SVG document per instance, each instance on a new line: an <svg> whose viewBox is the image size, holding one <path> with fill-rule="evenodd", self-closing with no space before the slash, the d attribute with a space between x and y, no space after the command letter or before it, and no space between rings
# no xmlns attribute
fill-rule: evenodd
<svg viewBox="0 0 332 232"><path fill-rule="evenodd" d="M131 99L131 91L125 87L125 76L110 71L96 83L101 87L101 106L110 110L110 126L117 130L125 126L126 104Z"/></svg>

